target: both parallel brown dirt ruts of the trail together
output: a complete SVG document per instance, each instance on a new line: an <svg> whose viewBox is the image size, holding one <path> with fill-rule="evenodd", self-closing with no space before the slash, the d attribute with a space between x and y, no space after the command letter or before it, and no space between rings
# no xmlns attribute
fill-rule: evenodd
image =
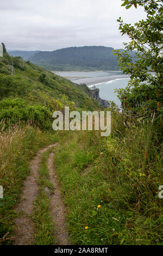
<svg viewBox="0 0 163 256"><path fill-rule="evenodd" d="M41 155L57 144L48 145L48 147L39 150L37 155L30 161L30 173L24 181L24 189L20 199L20 203L16 206L18 217L15 220L14 230L14 245L32 245L34 244L34 223L32 221L32 214L34 211L34 201L36 200L39 186L37 179L39 178L39 167ZM54 194L51 196L49 209L55 224L55 234L59 245L68 245L68 233L66 231L65 223L65 205L61 201L60 190L56 181L57 176L54 174L53 156L51 152L48 157L47 167L49 177L54 185Z"/></svg>

